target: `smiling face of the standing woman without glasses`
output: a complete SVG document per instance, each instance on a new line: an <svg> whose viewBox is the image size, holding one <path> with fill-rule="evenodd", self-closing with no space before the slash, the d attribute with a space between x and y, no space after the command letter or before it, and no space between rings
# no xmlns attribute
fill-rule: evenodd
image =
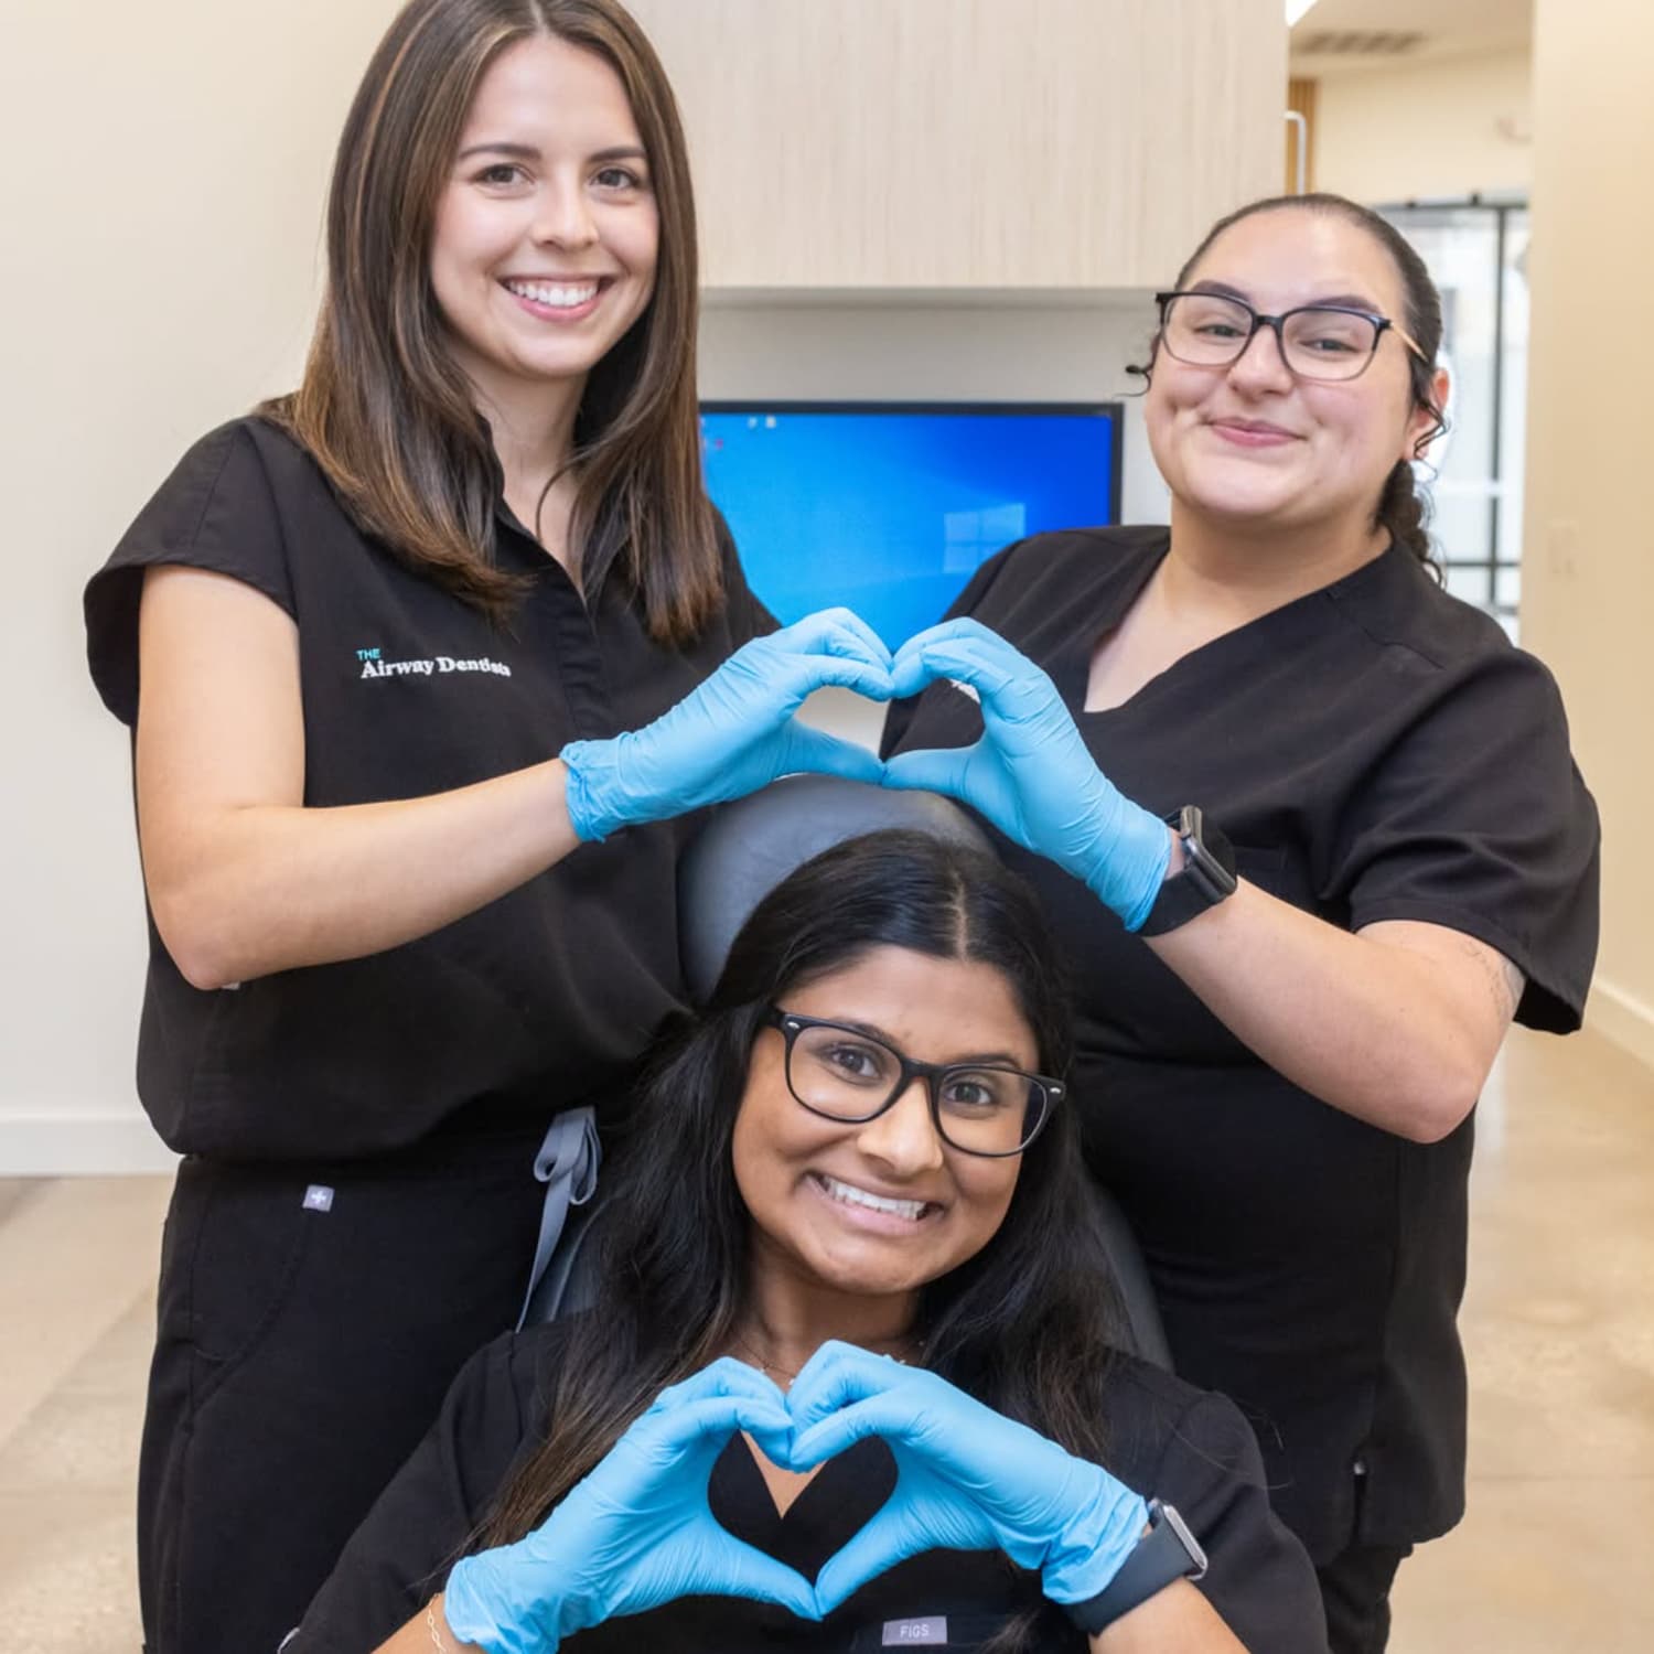
<svg viewBox="0 0 1654 1654"><path fill-rule="evenodd" d="M488 400L576 392L643 314L660 220L615 71L536 35L476 89L437 202L430 276L450 349Z"/></svg>

